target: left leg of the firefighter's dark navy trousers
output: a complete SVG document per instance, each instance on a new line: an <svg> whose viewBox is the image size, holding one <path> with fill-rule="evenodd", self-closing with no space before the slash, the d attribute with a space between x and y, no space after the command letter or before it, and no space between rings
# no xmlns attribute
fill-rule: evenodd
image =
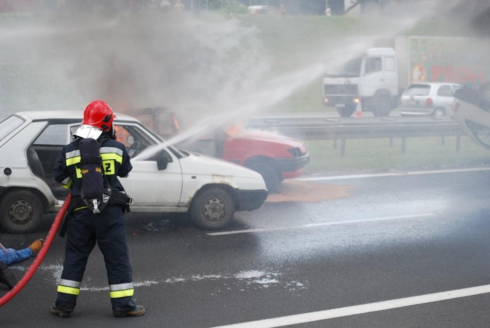
<svg viewBox="0 0 490 328"><path fill-rule="evenodd" d="M76 304L87 260L96 241L92 215L88 209L78 210L73 213L68 223L65 261L55 302L57 307L74 307Z"/></svg>

